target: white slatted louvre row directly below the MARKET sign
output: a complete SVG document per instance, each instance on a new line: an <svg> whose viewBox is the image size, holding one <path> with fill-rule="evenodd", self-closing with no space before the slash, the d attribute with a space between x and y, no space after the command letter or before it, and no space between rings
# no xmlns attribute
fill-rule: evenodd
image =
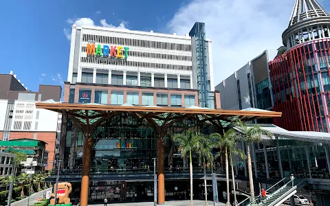
<svg viewBox="0 0 330 206"><path fill-rule="evenodd" d="M144 67L144 68L155 68L155 69L175 69L175 70L184 70L191 71L192 66L185 65L168 65L168 64L158 64L151 62L135 62L129 60L113 60L111 58L97 58L95 56L81 57L81 62L84 63L94 63L100 65L123 65L129 67Z"/></svg>

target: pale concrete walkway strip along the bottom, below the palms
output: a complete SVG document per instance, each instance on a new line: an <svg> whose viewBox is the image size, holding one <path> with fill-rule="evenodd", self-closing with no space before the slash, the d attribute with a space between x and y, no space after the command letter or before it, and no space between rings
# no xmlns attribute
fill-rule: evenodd
<svg viewBox="0 0 330 206"><path fill-rule="evenodd" d="M104 204L98 204L93 206L103 206ZM168 201L165 203L168 206L189 206L190 201ZM205 201L194 201L194 206L204 206ZM213 206L212 201L208 201L209 206ZM153 206L153 202L146 203L108 203L108 206ZM225 206L225 203L219 203L219 206Z"/></svg>

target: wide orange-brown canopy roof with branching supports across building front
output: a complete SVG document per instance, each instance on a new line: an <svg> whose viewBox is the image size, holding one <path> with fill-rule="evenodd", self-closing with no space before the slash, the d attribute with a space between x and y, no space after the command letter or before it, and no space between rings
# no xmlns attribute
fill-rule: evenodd
<svg viewBox="0 0 330 206"><path fill-rule="evenodd" d="M212 124L216 128L228 126L236 119L250 121L258 118L281 117L282 113L273 111L262 111L250 108L247 111L222 110L201 108L191 106L189 108L161 107L161 106L133 106L123 104L121 106L104 104L69 104L47 100L46 102L36 103L36 108L44 108L50 111L63 113L70 119L80 124L80 126L94 125L94 128L105 119L109 119L120 113L127 113L137 117L140 121L146 121L153 128L159 126L169 126L181 119L194 118L199 122ZM164 133L161 129L160 133Z"/></svg>

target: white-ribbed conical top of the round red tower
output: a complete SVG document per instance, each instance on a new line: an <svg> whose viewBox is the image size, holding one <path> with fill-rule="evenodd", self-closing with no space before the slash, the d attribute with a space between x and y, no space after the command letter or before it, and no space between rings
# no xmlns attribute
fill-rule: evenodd
<svg viewBox="0 0 330 206"><path fill-rule="evenodd" d="M283 45L291 48L320 38L330 38L330 15L316 0L296 0Z"/></svg>

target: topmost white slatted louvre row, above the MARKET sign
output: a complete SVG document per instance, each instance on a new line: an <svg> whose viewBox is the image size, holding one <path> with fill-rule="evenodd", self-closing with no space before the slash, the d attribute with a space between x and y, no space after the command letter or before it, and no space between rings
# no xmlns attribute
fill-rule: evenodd
<svg viewBox="0 0 330 206"><path fill-rule="evenodd" d="M191 45L186 44L177 44L177 43L166 43L160 41L148 41L142 39L134 38L121 38L114 36L100 36L93 34L83 34L83 41L85 42L95 42L95 43L104 43L111 45L124 45L124 46L134 46L134 47L146 47L146 48L155 48L155 49L168 49L168 50L177 50L190 52Z"/></svg>

